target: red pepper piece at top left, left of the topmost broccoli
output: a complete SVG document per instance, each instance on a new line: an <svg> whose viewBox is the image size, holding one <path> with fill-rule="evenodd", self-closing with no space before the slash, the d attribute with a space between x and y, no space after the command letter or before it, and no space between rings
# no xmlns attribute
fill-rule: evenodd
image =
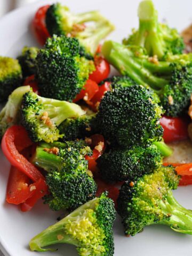
<svg viewBox="0 0 192 256"><path fill-rule="evenodd" d="M40 7L35 13L35 17L32 21L32 26L35 31L37 41L42 45L45 44L47 37L50 37L45 25L45 15L49 7L50 5Z"/></svg>

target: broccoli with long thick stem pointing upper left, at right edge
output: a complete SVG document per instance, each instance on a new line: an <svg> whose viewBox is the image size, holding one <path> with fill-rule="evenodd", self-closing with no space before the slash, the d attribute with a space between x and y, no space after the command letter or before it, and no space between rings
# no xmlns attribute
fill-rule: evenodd
<svg viewBox="0 0 192 256"><path fill-rule="evenodd" d="M158 61L154 57L138 57L129 47L112 41L103 44L102 53L122 75L150 86L159 95L167 116L181 115L188 107L192 93L192 54Z"/></svg>

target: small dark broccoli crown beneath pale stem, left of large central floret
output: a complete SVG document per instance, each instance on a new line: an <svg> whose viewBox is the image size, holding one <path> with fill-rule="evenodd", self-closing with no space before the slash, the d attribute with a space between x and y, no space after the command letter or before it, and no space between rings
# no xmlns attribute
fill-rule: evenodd
<svg viewBox="0 0 192 256"><path fill-rule="evenodd" d="M59 125L63 135L62 140L84 139L94 134L95 115L83 115L77 118L67 118Z"/></svg>

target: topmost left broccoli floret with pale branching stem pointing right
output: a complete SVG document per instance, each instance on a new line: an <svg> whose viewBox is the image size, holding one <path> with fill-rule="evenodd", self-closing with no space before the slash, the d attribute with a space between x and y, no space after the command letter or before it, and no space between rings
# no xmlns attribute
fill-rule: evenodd
<svg viewBox="0 0 192 256"><path fill-rule="evenodd" d="M93 24L85 26L87 22ZM60 3L52 4L47 10L46 27L50 35L76 37L83 55L94 55L99 42L114 30L114 26L98 11L73 14Z"/></svg>

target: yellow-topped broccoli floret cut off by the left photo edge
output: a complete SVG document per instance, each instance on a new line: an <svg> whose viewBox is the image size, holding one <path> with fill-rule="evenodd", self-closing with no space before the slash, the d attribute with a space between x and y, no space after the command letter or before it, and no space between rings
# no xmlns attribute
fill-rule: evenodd
<svg viewBox="0 0 192 256"><path fill-rule="evenodd" d="M21 82L22 71L18 60L0 56L0 102L7 100Z"/></svg>

